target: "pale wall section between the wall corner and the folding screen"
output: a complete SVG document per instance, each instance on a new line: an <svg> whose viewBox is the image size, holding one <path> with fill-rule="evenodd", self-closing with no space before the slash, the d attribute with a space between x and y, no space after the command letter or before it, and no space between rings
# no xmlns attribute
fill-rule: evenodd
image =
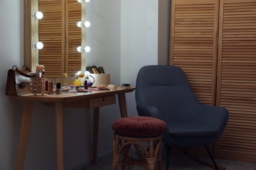
<svg viewBox="0 0 256 170"><path fill-rule="evenodd" d="M121 1L121 83L136 85L140 67L158 64L158 1ZM129 116L137 115L135 93L127 93Z"/></svg>

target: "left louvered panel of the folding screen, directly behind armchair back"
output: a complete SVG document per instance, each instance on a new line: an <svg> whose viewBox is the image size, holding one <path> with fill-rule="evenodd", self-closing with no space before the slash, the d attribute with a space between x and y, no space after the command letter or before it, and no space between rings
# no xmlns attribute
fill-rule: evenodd
<svg viewBox="0 0 256 170"><path fill-rule="evenodd" d="M218 1L172 1L170 64L182 67L199 101L215 105Z"/></svg>

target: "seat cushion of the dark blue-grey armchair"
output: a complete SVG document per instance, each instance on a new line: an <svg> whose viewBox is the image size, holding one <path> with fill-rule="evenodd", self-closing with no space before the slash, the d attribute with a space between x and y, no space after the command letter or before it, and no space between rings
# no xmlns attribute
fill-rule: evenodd
<svg viewBox="0 0 256 170"><path fill-rule="evenodd" d="M211 137L217 133L217 129L203 122L177 120L167 124L169 135L172 137Z"/></svg>

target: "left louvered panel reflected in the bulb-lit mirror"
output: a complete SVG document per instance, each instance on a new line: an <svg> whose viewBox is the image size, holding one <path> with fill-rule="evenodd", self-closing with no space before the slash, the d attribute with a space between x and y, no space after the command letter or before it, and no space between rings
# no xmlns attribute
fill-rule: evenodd
<svg viewBox="0 0 256 170"><path fill-rule="evenodd" d="M61 76L64 73L64 4L58 1L39 1L43 19L39 20L39 64L45 65L45 76Z"/></svg>

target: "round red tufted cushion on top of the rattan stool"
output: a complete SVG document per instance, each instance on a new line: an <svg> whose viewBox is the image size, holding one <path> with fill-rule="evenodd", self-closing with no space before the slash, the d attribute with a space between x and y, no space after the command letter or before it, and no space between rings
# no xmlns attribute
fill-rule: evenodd
<svg viewBox="0 0 256 170"><path fill-rule="evenodd" d="M119 135L129 137L154 137L165 131L166 124L158 118L133 116L116 120L112 129Z"/></svg>

